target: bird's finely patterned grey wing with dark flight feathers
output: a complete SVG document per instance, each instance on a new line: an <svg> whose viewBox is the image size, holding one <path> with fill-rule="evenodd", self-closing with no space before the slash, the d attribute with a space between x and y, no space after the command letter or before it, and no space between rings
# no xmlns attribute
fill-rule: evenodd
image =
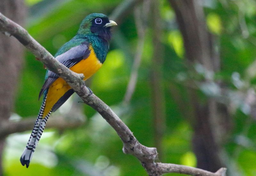
<svg viewBox="0 0 256 176"><path fill-rule="evenodd" d="M76 65L83 59L86 59L90 55L90 50L88 49L89 43L84 42L78 46L70 48L68 51L60 54L55 59L60 63L70 68ZM58 78L59 76L52 71L48 70L47 79L44 82L42 89L39 92L39 98L42 96L44 91ZM38 98L38 99L39 99Z"/></svg>

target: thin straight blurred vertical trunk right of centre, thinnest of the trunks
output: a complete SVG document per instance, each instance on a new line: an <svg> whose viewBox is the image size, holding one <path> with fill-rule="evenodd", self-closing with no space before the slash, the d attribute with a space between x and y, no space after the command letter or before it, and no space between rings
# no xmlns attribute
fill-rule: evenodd
<svg viewBox="0 0 256 176"><path fill-rule="evenodd" d="M163 46L160 24L159 1L152 1L153 58L151 65L152 109L154 122L154 142L159 159L162 159L162 138L165 129L165 100L163 83Z"/></svg>

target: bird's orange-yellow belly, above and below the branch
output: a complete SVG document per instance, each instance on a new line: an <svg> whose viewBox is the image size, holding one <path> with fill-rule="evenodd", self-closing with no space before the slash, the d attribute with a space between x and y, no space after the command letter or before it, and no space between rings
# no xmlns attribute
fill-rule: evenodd
<svg viewBox="0 0 256 176"><path fill-rule="evenodd" d="M70 68L70 70L76 73L83 73L84 80L91 77L94 73L96 73L102 63L97 59L92 47L89 49L91 53L88 58L81 60L79 63ZM71 87L64 81L62 78L56 79L49 87L47 92L47 98L45 102L45 109L43 118L50 112L53 105L70 89Z"/></svg>

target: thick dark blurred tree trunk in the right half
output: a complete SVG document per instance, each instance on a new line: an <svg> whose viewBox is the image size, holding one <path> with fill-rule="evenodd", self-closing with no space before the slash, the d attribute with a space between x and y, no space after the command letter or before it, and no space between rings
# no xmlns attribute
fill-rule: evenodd
<svg viewBox="0 0 256 176"><path fill-rule="evenodd" d="M206 70L212 72L219 70L219 54L214 52L213 37L206 29L200 1L169 0L169 2L176 13L188 63L200 63ZM188 92L190 106L194 111L193 119L190 120L195 131L193 148L197 157L197 167L216 172L220 167L225 166L221 145L230 127L227 108L212 98L203 102L195 90L189 89Z"/></svg>

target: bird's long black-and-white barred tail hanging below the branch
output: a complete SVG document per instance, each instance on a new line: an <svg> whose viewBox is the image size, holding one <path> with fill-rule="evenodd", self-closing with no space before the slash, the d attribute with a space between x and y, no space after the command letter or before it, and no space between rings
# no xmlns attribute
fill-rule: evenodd
<svg viewBox="0 0 256 176"><path fill-rule="evenodd" d="M27 146L24 150L24 152L22 153L21 157L20 157L20 163L24 166L26 165L26 167L28 168L29 163L32 159L33 153L36 149L36 146L38 144L38 141L41 138L41 135L44 131L44 127L46 125L46 122L49 118L49 116L51 115L52 111L50 111L44 118L43 118L43 114L44 114L44 108L45 108L45 100L46 97L43 101L43 104L41 106L41 109L39 111L39 114L37 116L36 119L36 123L34 125L34 128L32 130L32 133L30 135L30 138L28 140Z"/></svg>

